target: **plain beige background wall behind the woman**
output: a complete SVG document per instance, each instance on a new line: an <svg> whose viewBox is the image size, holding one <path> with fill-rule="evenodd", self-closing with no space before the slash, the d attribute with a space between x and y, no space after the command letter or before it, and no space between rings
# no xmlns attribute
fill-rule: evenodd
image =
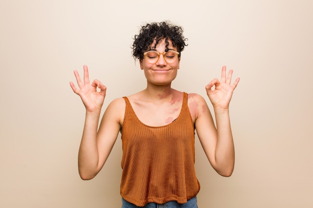
<svg viewBox="0 0 313 208"><path fill-rule="evenodd" d="M312 10L310 0L0 0L0 207L120 208L121 141L80 180L84 107L68 83L88 65L107 86L103 108L143 89L132 37L161 20L188 38L174 88L205 97L222 65L241 78L233 175L218 176L196 141L199 208L313 207Z"/></svg>

